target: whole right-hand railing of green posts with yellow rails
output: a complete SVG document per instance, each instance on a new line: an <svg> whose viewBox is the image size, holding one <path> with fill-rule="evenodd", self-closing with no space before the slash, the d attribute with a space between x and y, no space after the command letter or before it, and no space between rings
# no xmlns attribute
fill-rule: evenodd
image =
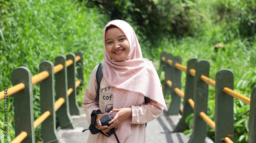
<svg viewBox="0 0 256 143"><path fill-rule="evenodd" d="M181 98L183 101L182 118L175 131L182 132L189 127L185 123L190 113L194 113L193 133L188 142L204 142L207 124L215 131L215 143L234 141L233 97L250 105L249 142L256 142L256 85L251 98L233 91L234 76L232 71L221 69L215 80L209 77L209 62L190 58L187 67L181 65L180 56L161 53L161 67L165 72L164 96L171 95L169 115L178 115ZM181 91L181 72L186 72L184 92ZM215 122L207 116L208 85L215 87Z"/></svg>

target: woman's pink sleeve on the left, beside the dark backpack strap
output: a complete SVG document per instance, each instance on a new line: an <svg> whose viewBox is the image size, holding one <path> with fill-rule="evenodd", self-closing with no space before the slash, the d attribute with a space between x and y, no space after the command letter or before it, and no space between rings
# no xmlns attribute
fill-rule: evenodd
<svg viewBox="0 0 256 143"><path fill-rule="evenodd" d="M96 66L91 74L90 81L87 85L86 91L82 101L83 109L86 111L86 119L91 124L91 113L93 110L99 110L99 103L95 100L97 93L97 81L96 81Z"/></svg>

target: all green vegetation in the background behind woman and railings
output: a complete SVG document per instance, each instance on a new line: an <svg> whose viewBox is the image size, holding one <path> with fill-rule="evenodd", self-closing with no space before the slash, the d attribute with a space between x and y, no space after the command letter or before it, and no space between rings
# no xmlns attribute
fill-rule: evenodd
<svg viewBox="0 0 256 143"><path fill-rule="evenodd" d="M210 78L219 69L234 73L235 91L250 97L256 83L256 2L253 0L146 1L0 1L0 88L12 87L11 72L28 67L32 75L44 60L69 52L84 54L86 87L93 68L103 61L102 30L111 19L123 19L135 29L144 58L159 68L162 51L210 62ZM215 51L215 44L225 47ZM185 74L182 74L184 89ZM0 90L0 91L2 91ZM84 90L84 89L83 89ZM34 119L40 115L39 87L33 85ZM81 105L82 92L78 95ZM14 138L13 97L9 97L9 136ZM3 100L0 106L3 106ZM209 87L208 115L214 120L215 89ZM4 141L3 110L0 142ZM191 116L190 116L191 118ZM248 142L249 105L234 100L235 142ZM190 119L191 121L191 119ZM188 119L189 122L189 119ZM191 122L190 122L191 123ZM191 130L190 130L191 131ZM190 132L186 131L186 132ZM40 142L40 126L35 130ZM214 131L208 128L214 139Z"/></svg>

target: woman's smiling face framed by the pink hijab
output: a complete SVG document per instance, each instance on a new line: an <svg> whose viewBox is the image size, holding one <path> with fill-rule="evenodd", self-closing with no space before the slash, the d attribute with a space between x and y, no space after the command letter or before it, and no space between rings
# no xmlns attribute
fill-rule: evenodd
<svg viewBox="0 0 256 143"><path fill-rule="evenodd" d="M108 54L116 61L124 61L130 52L130 44L119 28L110 28L106 31L105 45Z"/></svg>

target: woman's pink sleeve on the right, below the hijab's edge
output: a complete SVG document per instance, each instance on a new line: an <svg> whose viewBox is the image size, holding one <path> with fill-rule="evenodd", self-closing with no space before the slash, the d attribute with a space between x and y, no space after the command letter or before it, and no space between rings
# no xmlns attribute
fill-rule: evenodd
<svg viewBox="0 0 256 143"><path fill-rule="evenodd" d="M155 100L150 100L149 103L141 106L132 107L132 122L131 124L144 124L158 118L163 108L161 104L158 104Z"/></svg>

